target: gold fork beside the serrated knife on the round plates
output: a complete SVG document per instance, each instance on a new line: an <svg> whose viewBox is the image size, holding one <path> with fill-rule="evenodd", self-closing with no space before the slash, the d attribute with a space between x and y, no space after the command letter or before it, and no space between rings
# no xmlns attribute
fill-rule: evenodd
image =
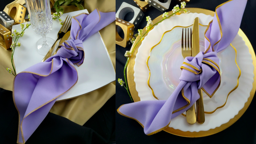
<svg viewBox="0 0 256 144"><path fill-rule="evenodd" d="M187 35L186 35L187 34ZM183 46L183 29L182 29L182 37L181 37L181 54L182 57L191 57L192 56L192 30L190 28L190 47L189 47L189 29L185 29L185 49ZM194 124L196 123L196 111L194 104L186 111L187 123Z"/></svg>

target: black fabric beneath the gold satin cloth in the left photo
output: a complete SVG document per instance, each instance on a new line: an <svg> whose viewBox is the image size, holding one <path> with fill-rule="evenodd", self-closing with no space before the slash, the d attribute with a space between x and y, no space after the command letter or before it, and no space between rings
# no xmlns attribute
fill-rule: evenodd
<svg viewBox="0 0 256 144"><path fill-rule="evenodd" d="M11 2L13 0L0 0L0 11ZM49 112L26 144L114 144L114 105L115 95L83 126ZM12 91L0 88L0 144L16 144L17 132L18 112Z"/></svg>

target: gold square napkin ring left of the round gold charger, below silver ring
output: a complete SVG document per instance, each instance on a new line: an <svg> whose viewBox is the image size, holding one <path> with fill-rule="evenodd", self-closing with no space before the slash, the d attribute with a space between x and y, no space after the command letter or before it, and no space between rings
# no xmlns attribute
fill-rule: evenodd
<svg viewBox="0 0 256 144"><path fill-rule="evenodd" d="M117 32L117 26L120 26L124 33L124 38L119 36ZM116 18L116 44L126 47L133 38L134 25L120 18Z"/></svg>

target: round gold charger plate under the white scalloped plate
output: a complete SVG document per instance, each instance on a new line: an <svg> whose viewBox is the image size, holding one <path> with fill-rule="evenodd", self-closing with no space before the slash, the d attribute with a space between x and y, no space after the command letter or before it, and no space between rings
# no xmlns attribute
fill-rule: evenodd
<svg viewBox="0 0 256 144"><path fill-rule="evenodd" d="M190 11L190 13L202 13L205 15L211 15L214 16L214 11L210 11L207 9L202 9L202 8L186 8L188 11ZM170 14L172 14L172 11L169 12ZM160 20L162 20L162 15L158 16L157 18L155 18L154 20L152 20L153 23L157 23ZM146 32L146 27L144 27L143 29L143 33ZM246 46L248 46L249 48L249 52L251 54L251 59L252 59L252 64L254 66L253 69L253 74L256 75L256 57L255 57L255 53L254 50L251 46L251 43L249 41L249 39L247 38L247 36L243 33L243 31L241 29L239 29L238 31L239 36L241 36L243 38L243 40L245 41ZM147 34L145 34L145 36L147 36ZM139 38L136 38L133 46L131 48L130 51L132 51L134 45L139 41ZM138 92L136 91L136 87L135 87L135 82L134 82L134 64L135 64L135 58L136 58L136 54L138 53L138 47L141 45L141 43L139 43L132 54L132 57L130 58L130 62L127 66L127 81L128 81L128 86L130 88L130 93L133 97L134 102L140 101L140 97L138 96ZM199 131L199 132L190 132L190 131L181 131L179 129L173 129L170 127L167 127L166 129L164 129L164 131L177 135L177 136L182 136L182 137L205 137L205 136L209 136L209 135L213 135L215 133L218 133L224 129L227 129L229 126L231 126L233 123L235 123L246 111L246 109L249 107L251 100L255 94L255 90L256 90L256 77L253 77L253 83L252 83L252 90L250 92L250 97L248 98L247 102L244 104L244 107L239 111L239 113L232 119L229 120L229 122L222 124L220 127L216 127L215 129L209 129L207 131Z"/></svg>

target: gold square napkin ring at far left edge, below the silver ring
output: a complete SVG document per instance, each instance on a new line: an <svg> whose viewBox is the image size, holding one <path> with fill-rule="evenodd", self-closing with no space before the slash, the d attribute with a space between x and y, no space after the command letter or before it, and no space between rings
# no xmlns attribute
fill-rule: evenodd
<svg viewBox="0 0 256 144"><path fill-rule="evenodd" d="M3 25L0 25L0 45L5 49L9 49L12 45L11 31Z"/></svg>

